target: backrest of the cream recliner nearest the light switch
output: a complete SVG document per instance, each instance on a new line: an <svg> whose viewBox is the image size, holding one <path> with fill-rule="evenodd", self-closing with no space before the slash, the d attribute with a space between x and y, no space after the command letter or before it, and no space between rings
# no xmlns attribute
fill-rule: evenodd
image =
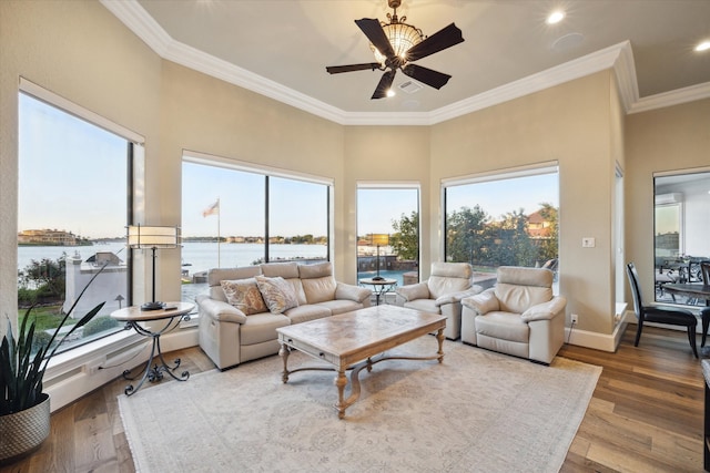
<svg viewBox="0 0 710 473"><path fill-rule="evenodd" d="M505 312L523 313L552 299L554 274L549 269L500 266L497 278L494 292Z"/></svg>

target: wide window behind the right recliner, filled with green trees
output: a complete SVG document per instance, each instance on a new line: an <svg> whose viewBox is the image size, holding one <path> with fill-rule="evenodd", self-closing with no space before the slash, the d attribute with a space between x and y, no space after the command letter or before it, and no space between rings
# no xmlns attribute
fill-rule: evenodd
<svg viewBox="0 0 710 473"><path fill-rule="evenodd" d="M444 183L445 260L558 269L556 164Z"/></svg>

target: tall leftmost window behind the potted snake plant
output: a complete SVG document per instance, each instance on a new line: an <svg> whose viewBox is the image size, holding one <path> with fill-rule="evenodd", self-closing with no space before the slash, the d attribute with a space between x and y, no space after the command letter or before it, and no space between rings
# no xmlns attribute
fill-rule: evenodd
<svg viewBox="0 0 710 473"><path fill-rule="evenodd" d="M38 91L42 100L19 95L18 318L34 306L37 329L48 339L97 273L69 323L105 302L65 350L123 329L110 313L130 304L124 248L134 145L105 122L78 117L90 112L69 104L69 113Z"/></svg>

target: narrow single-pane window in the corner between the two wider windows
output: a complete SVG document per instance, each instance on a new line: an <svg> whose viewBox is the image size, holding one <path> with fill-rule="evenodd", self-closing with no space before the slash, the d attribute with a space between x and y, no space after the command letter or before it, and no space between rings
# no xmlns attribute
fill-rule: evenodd
<svg viewBox="0 0 710 473"><path fill-rule="evenodd" d="M419 188L361 183L357 188L357 279L397 285L419 279Z"/></svg>

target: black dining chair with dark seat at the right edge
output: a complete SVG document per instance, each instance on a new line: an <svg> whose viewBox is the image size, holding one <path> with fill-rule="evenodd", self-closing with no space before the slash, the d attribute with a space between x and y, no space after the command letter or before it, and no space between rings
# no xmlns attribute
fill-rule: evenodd
<svg viewBox="0 0 710 473"><path fill-rule="evenodd" d="M643 330L645 322L655 322L672 326L683 326L688 330L688 341L690 341L690 348L692 348L692 354L698 358L698 348L696 347L696 326L698 319L689 310L674 309L670 307L656 307L643 306L643 299L641 298L641 288L639 287L639 275L636 271L633 263L626 265L626 274L629 277L629 285L631 286L631 292L633 294L633 311L638 319L638 328L636 329L635 347L639 346L641 339L641 330Z"/></svg>

